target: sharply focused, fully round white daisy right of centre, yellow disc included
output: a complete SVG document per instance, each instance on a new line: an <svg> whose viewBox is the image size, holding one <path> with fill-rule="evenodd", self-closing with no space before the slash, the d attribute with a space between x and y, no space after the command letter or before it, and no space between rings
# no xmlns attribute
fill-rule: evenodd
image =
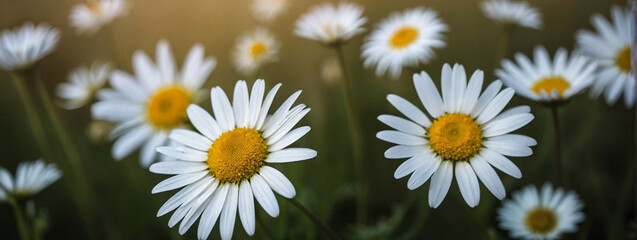
<svg viewBox="0 0 637 240"><path fill-rule="evenodd" d="M396 179L409 174L407 188L413 190L431 178L429 206L436 208L447 196L455 175L460 193L470 207L480 202L478 179L498 199L506 195L493 167L515 178L520 169L505 156L526 157L536 142L511 134L528 124L533 115L528 106L502 112L513 97L511 88L500 92L496 80L480 94L484 73L475 71L467 84L464 67L442 67L442 98L426 72L414 74L414 87L429 116L407 100L390 94L387 100L409 120L393 115L378 119L395 130L380 131L381 140L397 144L385 151L388 159L409 158L394 173ZM433 120L430 120L433 119Z"/></svg>

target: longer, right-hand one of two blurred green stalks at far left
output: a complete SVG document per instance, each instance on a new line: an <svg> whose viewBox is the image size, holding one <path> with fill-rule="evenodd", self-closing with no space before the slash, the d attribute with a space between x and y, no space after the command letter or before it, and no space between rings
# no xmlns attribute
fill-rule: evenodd
<svg viewBox="0 0 637 240"><path fill-rule="evenodd" d="M55 106L52 104L52 99L49 96L49 93L46 91L42 80L39 76L36 75L36 88L38 94L41 97L42 105L44 106L45 112L49 117L51 124L53 125L53 129L55 130L56 136L62 145L62 150L66 155L68 161L70 162L71 168L73 169L73 173L76 178L76 184L78 186L77 196L78 205L80 206L80 212L83 215L85 221L90 226L90 228L94 227L93 218L91 217L91 213L94 212L93 209L93 201L95 200L93 196L93 192L88 186L89 178L85 174L85 167L82 164L82 160L80 158L79 153L77 152L71 138L69 137L67 131L64 129L62 122L60 121L57 113L55 112ZM92 236L91 230L89 230L89 234Z"/></svg>

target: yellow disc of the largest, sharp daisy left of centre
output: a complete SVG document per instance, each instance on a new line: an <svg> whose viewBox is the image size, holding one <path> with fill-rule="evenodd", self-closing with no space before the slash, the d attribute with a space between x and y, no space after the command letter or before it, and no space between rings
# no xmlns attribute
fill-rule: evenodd
<svg viewBox="0 0 637 240"><path fill-rule="evenodd" d="M221 134L212 144L208 150L208 167L222 183L238 183L259 172L267 149L259 132L237 128Z"/></svg>

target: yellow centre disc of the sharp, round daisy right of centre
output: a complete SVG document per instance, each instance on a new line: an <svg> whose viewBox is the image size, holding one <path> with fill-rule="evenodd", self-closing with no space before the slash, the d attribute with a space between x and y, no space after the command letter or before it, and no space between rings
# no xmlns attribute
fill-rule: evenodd
<svg viewBox="0 0 637 240"><path fill-rule="evenodd" d="M427 129L429 145L444 160L467 161L482 146L482 129L471 117L447 113Z"/></svg>

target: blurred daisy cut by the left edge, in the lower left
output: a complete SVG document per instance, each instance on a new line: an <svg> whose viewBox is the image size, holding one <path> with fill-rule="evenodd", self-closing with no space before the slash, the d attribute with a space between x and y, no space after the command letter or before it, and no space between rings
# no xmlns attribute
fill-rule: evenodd
<svg viewBox="0 0 637 240"><path fill-rule="evenodd" d="M6 169L0 167L0 188L6 194L24 198L33 196L62 177L62 172L53 163L42 159L33 162L21 162L15 178ZM6 196L5 196L6 197Z"/></svg>

